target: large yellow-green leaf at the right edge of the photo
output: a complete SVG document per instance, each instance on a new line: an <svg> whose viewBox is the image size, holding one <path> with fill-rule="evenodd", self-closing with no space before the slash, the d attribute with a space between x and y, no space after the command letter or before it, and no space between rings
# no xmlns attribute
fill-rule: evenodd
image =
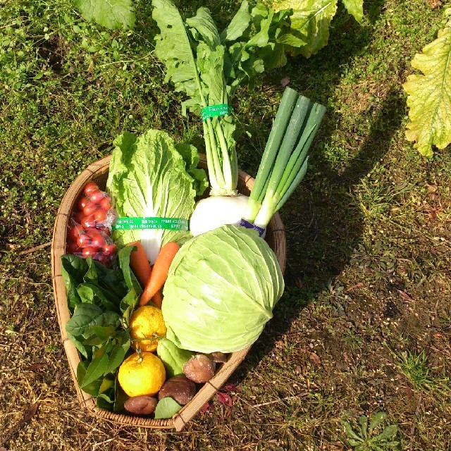
<svg viewBox="0 0 451 451"><path fill-rule="evenodd" d="M409 106L406 137L424 156L432 147L451 143L451 20L435 41L416 54L412 67L423 75L409 75L404 83Z"/></svg>

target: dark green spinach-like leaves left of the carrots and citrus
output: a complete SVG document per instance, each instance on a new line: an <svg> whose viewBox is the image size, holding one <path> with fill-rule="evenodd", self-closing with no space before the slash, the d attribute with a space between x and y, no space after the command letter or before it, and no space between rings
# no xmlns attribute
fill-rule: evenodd
<svg viewBox="0 0 451 451"><path fill-rule="evenodd" d="M130 270L130 247L118 252L119 268L106 268L76 255L63 255L63 280L72 316L68 338L83 359L77 381L99 406L113 410L116 370L130 348L128 319L142 289Z"/></svg>

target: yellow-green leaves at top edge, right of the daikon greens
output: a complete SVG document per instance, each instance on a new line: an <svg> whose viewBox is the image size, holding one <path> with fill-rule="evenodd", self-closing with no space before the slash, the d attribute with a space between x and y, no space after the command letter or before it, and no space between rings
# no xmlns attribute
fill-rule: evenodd
<svg viewBox="0 0 451 451"><path fill-rule="evenodd" d="M342 2L360 22L363 18L363 0ZM267 3L276 11L292 8L290 31L278 40L285 44L290 54L302 54L309 58L327 45L330 22L337 13L338 0L273 0Z"/></svg>

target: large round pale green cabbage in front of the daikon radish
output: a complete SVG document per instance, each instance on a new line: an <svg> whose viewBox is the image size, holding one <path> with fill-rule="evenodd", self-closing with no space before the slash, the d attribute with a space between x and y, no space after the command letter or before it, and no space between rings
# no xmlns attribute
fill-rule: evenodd
<svg viewBox="0 0 451 451"><path fill-rule="evenodd" d="M187 241L163 289L167 338L195 352L235 352L259 338L284 289L280 266L254 230L222 226Z"/></svg>

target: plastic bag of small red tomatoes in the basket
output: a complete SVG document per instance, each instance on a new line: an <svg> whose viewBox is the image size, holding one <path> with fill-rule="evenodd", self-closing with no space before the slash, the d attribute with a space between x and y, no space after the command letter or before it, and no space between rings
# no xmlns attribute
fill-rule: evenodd
<svg viewBox="0 0 451 451"><path fill-rule="evenodd" d="M110 266L116 252L111 239L111 224L116 212L111 199L96 183L87 183L72 211L68 230L67 252L80 257L92 257Z"/></svg>

